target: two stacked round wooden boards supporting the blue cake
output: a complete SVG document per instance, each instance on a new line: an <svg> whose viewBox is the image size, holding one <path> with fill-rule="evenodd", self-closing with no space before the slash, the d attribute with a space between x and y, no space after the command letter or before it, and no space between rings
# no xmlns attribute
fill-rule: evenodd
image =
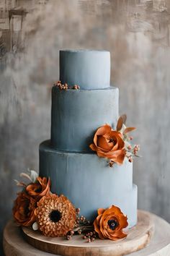
<svg viewBox="0 0 170 256"><path fill-rule="evenodd" d="M23 234L28 243L23 239ZM117 242L96 239L88 243L81 237L81 235L73 236L67 241L62 238L45 237L39 231L27 228L21 232L14 221L9 221L4 229L4 252L6 256L120 256L131 255L132 252L132 256L170 255L169 223L142 210L138 210L138 224L129 229L126 239ZM151 243L146 247L150 239Z"/></svg>

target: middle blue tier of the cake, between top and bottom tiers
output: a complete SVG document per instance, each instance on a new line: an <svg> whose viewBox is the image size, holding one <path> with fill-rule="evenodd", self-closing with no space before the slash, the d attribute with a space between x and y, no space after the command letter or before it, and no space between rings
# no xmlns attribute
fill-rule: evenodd
<svg viewBox="0 0 170 256"><path fill-rule="evenodd" d="M54 148L91 151L94 132L103 124L116 127L118 88L104 90L52 90L51 142Z"/></svg>

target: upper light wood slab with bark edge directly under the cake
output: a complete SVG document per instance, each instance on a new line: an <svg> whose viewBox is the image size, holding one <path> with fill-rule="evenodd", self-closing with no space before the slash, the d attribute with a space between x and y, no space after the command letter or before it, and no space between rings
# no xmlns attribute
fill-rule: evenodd
<svg viewBox="0 0 170 256"><path fill-rule="evenodd" d="M116 242L96 239L94 242L86 242L82 235L73 236L71 240L66 238L52 238L40 234L39 231L22 228L24 237L29 244L45 252L62 256L122 256L130 252L138 251L150 242L153 235L154 222L150 213L138 210L138 224L128 230L125 239Z"/></svg>

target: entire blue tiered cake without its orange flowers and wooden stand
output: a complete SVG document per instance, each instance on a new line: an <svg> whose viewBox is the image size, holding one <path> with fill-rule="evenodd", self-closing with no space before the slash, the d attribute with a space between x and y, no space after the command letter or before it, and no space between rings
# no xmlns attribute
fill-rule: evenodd
<svg viewBox="0 0 170 256"><path fill-rule="evenodd" d="M79 90L52 88L51 138L40 144L40 176L50 177L51 191L68 197L81 215L93 221L98 208L118 206L137 223L137 186L133 163L108 166L89 148L104 124L116 128L119 90L110 86L109 51L60 51L62 84Z"/></svg>

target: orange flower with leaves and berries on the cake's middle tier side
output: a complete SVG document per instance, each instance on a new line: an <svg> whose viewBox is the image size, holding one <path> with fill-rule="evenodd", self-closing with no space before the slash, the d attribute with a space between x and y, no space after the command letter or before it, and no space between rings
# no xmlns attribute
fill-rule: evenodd
<svg viewBox="0 0 170 256"><path fill-rule="evenodd" d="M118 119L116 130L109 124L99 127L94 134L94 143L89 145L99 157L109 159L111 167L114 163L122 164L125 157L132 162L133 156L138 156L139 145L132 145L133 137L128 136L128 132L132 132L135 127L126 127L125 121L124 114Z"/></svg>

